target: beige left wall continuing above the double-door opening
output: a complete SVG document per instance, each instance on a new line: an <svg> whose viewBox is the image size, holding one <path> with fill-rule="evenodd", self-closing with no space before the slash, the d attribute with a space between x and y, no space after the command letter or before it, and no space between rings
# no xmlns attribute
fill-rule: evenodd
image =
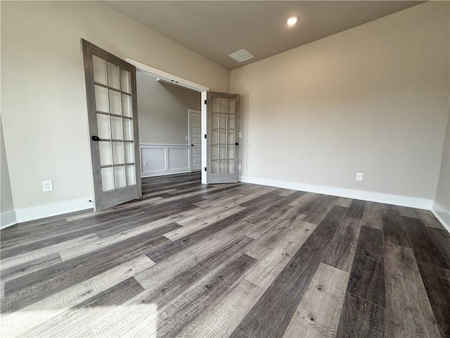
<svg viewBox="0 0 450 338"><path fill-rule="evenodd" d="M99 2L1 1L1 113L15 208L92 196L80 38L229 90L228 70ZM43 193L42 180L54 191Z"/></svg>

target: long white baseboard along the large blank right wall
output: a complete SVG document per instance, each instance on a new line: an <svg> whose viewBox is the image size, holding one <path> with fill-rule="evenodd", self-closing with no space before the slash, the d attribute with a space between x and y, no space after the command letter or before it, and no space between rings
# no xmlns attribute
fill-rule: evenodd
<svg viewBox="0 0 450 338"><path fill-rule="evenodd" d="M285 189L299 190L302 192L314 192L316 194L326 194L331 196L347 197L349 199L361 199L396 206L408 206L410 208L430 210L432 199L420 199L419 197L383 194L380 192L365 192L363 190L345 189L337 187L326 187L322 185L304 184L299 182L289 182L281 180L268 180L265 178L241 176L240 182L252 184L268 185Z"/></svg>

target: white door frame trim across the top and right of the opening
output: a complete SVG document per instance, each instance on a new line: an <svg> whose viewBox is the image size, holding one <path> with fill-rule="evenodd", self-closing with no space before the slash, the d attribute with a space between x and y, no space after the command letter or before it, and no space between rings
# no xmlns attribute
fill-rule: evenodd
<svg viewBox="0 0 450 338"><path fill-rule="evenodd" d="M195 90L195 92L201 93L201 116L202 116L202 135L206 134L207 131L207 111L206 111L206 93L210 91L209 87L205 87L202 84L198 84L189 80L184 79L183 77L179 77L170 73L165 72L164 70L159 70L158 68L151 67L150 65L146 65L145 63L141 63L139 61L135 61L131 58L125 58L125 61L128 63L131 63L131 65L134 65L136 67L136 72L142 72L147 73L149 75L152 75L153 77L157 77L161 80L165 80L166 82L173 83L176 85L179 85L180 87L185 87L188 89ZM202 137L202 168L206 168L206 139ZM139 154L139 157L141 154ZM206 183L206 171L204 169L202 171L202 183Z"/></svg>

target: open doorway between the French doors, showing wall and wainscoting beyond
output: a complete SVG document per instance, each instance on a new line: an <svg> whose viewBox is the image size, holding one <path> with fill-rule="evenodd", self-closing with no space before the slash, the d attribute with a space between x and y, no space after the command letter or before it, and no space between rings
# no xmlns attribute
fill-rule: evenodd
<svg viewBox="0 0 450 338"><path fill-rule="evenodd" d="M136 87L141 177L200 170L201 94L141 71Z"/></svg>

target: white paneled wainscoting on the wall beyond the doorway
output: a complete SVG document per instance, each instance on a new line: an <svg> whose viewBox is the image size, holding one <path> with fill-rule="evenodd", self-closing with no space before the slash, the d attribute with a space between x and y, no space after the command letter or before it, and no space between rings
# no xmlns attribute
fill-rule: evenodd
<svg viewBox="0 0 450 338"><path fill-rule="evenodd" d="M140 144L141 177L188 173L188 144Z"/></svg>

